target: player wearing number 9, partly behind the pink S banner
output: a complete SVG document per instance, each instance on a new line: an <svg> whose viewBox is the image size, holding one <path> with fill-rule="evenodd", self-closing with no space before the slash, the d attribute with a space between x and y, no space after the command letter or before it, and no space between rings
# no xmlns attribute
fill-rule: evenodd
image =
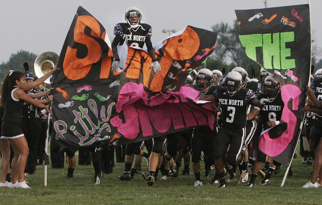
<svg viewBox="0 0 322 205"><path fill-rule="evenodd" d="M269 129L275 125L279 124L279 120L282 116L282 111L284 107L284 102L280 94L280 85L277 80L272 76L268 76L264 80L264 94L261 94L258 99L270 99L271 102L266 102L265 106L259 111L259 115L262 122L262 130ZM255 113L254 113L255 114ZM248 116L249 118L250 115ZM254 117L254 116L252 116ZM257 150L257 158L253 164L253 169L251 173L251 180L246 185L246 187L252 187L255 183L255 179L260 171L262 162L266 159L266 155L258 150L259 136L254 136L252 141L252 148ZM265 175L265 178L260 182L261 185L265 185L270 182L271 174L274 172L276 166L281 164L272 160L270 167Z"/></svg>

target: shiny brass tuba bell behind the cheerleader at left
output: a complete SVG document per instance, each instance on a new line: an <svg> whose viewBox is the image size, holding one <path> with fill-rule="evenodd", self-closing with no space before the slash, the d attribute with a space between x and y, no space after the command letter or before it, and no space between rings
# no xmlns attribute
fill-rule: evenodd
<svg viewBox="0 0 322 205"><path fill-rule="evenodd" d="M42 52L35 59L35 63L33 64L33 69L38 78L47 74L53 67L57 65L59 55L54 51L45 51ZM50 84L50 76L45 80L45 83Z"/></svg>

